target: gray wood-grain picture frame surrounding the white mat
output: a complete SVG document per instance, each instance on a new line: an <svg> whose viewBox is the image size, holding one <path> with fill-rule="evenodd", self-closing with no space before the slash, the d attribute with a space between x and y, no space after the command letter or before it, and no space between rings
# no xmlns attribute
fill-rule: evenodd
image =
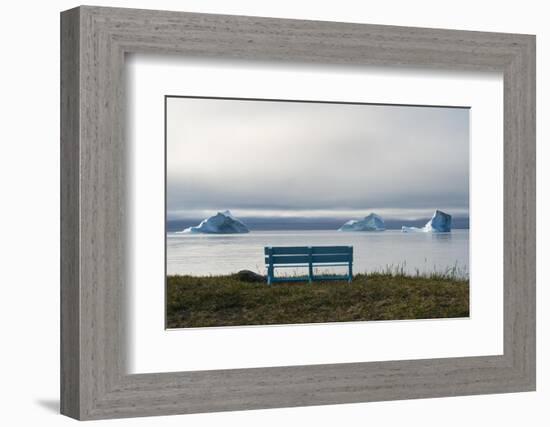
<svg viewBox="0 0 550 427"><path fill-rule="evenodd" d="M503 72L504 354L128 375L129 52ZM63 414L100 419L535 389L534 36L83 6L61 14L61 122Z"/></svg>

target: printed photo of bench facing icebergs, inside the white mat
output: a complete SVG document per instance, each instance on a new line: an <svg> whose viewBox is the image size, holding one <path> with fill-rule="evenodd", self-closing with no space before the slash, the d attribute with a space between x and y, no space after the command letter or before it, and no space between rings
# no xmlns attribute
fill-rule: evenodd
<svg viewBox="0 0 550 427"><path fill-rule="evenodd" d="M470 108L165 96L167 329L468 318Z"/></svg>

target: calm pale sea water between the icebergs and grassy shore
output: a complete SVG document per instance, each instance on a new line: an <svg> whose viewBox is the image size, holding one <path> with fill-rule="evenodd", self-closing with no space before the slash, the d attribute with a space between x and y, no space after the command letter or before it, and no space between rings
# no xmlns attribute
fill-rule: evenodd
<svg viewBox="0 0 550 427"><path fill-rule="evenodd" d="M354 273L403 266L409 273L456 266L469 274L469 230L451 233L254 231L248 234L167 234L168 274L196 276L247 269L265 274L265 246L351 245Z"/></svg>

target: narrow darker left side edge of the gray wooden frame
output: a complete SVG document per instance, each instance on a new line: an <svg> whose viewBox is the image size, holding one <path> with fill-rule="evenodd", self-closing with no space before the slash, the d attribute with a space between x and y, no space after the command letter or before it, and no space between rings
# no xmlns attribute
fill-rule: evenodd
<svg viewBox="0 0 550 427"><path fill-rule="evenodd" d="M80 414L78 10L61 20L61 412Z"/></svg>

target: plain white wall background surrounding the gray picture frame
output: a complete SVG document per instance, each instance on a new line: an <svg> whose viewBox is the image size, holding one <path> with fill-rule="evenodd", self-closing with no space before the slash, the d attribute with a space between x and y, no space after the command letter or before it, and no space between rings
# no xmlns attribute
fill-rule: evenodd
<svg viewBox="0 0 550 427"><path fill-rule="evenodd" d="M538 391L108 421L117 426L546 426L550 423L545 2L96 1L97 5L537 34ZM59 405L59 12L74 1L4 2L0 66L0 422L63 426ZM546 162L545 162L546 160ZM546 359L546 360L545 360Z"/></svg>

